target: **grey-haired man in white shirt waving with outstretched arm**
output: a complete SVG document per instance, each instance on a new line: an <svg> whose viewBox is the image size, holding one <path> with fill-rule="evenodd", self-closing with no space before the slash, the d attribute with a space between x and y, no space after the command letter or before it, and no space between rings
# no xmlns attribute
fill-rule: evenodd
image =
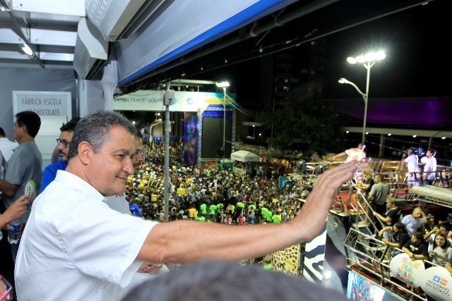
<svg viewBox="0 0 452 301"><path fill-rule="evenodd" d="M104 203L133 174L133 133L133 123L114 111L93 111L78 122L66 171L35 199L23 231L14 275L18 300L119 300L137 271L200 259L237 262L306 242L325 226L335 190L356 171L350 162L319 175L287 223L158 223Z"/></svg>

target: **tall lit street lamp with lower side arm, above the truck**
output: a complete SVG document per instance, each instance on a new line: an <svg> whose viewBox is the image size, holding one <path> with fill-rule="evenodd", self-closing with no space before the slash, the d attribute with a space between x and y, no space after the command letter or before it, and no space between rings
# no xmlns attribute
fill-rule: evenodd
<svg viewBox="0 0 452 301"><path fill-rule="evenodd" d="M369 52L368 54L364 56L357 56L355 58L348 57L347 62L349 63L362 63L362 66L367 69L367 78L366 78L366 93L363 93L355 83L350 82L350 80L346 80L345 78L339 78L339 82L341 84L349 84L355 87L357 92L361 94L362 99L364 100L364 123L362 125L362 143L364 144L364 141L366 140L366 121L367 121L367 102L369 100L369 80L370 80L370 68L374 66L374 63L376 61L381 61L382 59L386 58L386 54L383 51L379 52Z"/></svg>

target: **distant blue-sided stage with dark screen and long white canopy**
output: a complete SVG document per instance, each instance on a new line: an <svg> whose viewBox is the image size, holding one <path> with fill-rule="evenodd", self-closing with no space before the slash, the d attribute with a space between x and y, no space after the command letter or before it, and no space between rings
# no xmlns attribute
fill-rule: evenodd
<svg viewBox="0 0 452 301"><path fill-rule="evenodd" d="M114 97L114 111L162 111L165 90L138 90ZM174 91L169 111L184 112L184 161L201 166L220 161L223 118L226 111L225 158L230 158L235 142L235 94L222 92Z"/></svg>

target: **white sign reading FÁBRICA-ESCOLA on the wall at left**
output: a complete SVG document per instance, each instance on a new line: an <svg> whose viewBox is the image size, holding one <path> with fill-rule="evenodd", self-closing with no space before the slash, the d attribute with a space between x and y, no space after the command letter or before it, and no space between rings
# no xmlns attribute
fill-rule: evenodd
<svg viewBox="0 0 452 301"><path fill-rule="evenodd" d="M13 114L34 111L39 116L72 118L71 92L13 91Z"/></svg>

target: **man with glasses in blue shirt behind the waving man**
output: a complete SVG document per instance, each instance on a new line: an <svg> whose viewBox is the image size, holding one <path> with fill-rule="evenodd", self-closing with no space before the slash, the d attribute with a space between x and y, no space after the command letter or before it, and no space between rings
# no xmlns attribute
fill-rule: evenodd
<svg viewBox="0 0 452 301"><path fill-rule="evenodd" d="M61 133L59 134L59 138L57 139L57 147L59 152L59 160L55 163L47 165L42 172L42 182L40 193L49 185L52 180L57 176L57 171L60 169L64 171L68 166L68 158L67 154L69 151L69 145L71 144L73 131L76 129L76 125L80 118L73 118L68 123L64 123L59 130Z"/></svg>

